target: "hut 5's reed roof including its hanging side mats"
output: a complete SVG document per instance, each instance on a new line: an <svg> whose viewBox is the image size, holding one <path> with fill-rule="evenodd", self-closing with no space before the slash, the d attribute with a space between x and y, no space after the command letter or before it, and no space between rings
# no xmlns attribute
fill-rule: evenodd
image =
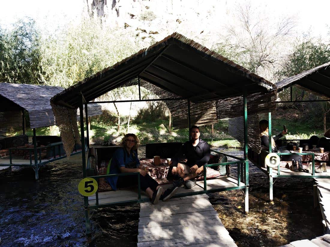
<svg viewBox="0 0 330 247"><path fill-rule="evenodd" d="M115 88L137 85L137 78L140 78L142 87L159 98L176 99L165 101L175 127L188 125L187 99L191 101L191 124L198 125L215 123L224 111L234 117L242 116L244 90L248 95L266 95L265 101L268 101L259 102L252 98L250 103L254 106L250 109L268 112L275 107L275 103L269 101L276 95L274 84L205 46L174 33L51 98L55 115L61 116L61 133L67 133L62 136L67 153L75 142L79 142L78 129L72 119L75 118L74 110L82 102L82 95L88 102ZM218 103L228 98L233 98L229 100L229 106Z"/></svg>

